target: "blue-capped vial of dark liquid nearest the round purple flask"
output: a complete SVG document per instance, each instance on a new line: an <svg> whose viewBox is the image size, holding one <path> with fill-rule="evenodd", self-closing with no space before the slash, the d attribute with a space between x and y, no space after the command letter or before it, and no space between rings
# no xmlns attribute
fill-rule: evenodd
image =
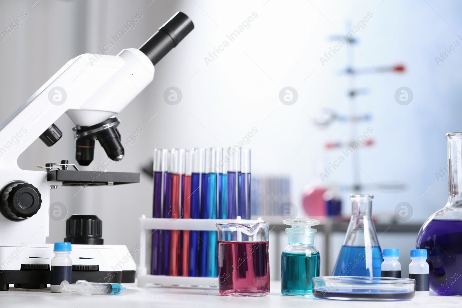
<svg viewBox="0 0 462 308"><path fill-rule="evenodd" d="M415 279L415 296L430 295L430 266L427 263L426 249L411 249L409 278Z"/></svg>

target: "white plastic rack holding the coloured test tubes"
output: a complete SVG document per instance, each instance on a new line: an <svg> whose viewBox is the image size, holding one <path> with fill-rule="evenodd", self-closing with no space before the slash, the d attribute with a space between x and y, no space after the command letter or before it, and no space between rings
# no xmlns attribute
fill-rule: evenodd
<svg viewBox="0 0 462 308"><path fill-rule="evenodd" d="M141 215L140 219L140 266L138 267L137 280L139 287L146 287L147 284L158 284L163 286L194 286L201 288L217 288L218 277L186 277L186 276L166 276L166 275L150 275L146 266L146 260L149 260L150 254L147 245L148 237L146 234L152 234L152 230L195 230L195 231L216 231L216 223L262 223L263 220L258 219L192 219L192 218L147 218L146 215Z"/></svg>

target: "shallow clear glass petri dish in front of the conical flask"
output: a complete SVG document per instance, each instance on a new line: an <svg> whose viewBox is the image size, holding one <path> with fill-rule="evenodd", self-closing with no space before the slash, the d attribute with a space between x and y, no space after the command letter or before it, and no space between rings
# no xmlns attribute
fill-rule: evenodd
<svg viewBox="0 0 462 308"><path fill-rule="evenodd" d="M406 301L415 296L415 280L385 277L313 278L316 298L344 301Z"/></svg>

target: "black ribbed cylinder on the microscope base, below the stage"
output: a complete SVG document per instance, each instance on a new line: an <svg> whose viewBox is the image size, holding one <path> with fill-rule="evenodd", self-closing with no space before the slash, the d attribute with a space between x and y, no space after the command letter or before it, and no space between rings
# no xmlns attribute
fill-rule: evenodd
<svg viewBox="0 0 462 308"><path fill-rule="evenodd" d="M64 242L103 245L103 222L96 215L72 215L66 220Z"/></svg>

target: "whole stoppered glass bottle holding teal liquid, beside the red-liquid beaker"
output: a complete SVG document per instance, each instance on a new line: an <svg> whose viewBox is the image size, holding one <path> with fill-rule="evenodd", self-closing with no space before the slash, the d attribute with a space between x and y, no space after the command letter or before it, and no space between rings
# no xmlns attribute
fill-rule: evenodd
<svg viewBox="0 0 462 308"><path fill-rule="evenodd" d="M313 294L313 277L320 276L321 259L314 247L316 219L286 219L285 224L289 246L281 257L281 293L282 295L306 296Z"/></svg>

